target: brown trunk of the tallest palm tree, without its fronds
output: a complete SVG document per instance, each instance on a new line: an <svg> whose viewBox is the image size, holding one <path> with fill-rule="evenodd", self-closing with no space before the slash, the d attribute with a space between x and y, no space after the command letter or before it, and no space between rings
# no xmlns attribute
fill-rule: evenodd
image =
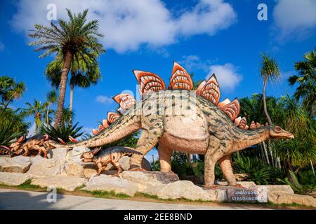
<svg viewBox="0 0 316 224"><path fill-rule="evenodd" d="M65 103L65 94L66 94L66 87L67 87L67 76L68 72L70 71L70 66L72 64L72 59L74 55L72 52L68 51L65 54L62 63L62 74L60 77L60 89L59 89L59 97L58 97L58 106L55 115L55 124L54 127L58 127L62 120L62 110L64 109Z"/></svg>

